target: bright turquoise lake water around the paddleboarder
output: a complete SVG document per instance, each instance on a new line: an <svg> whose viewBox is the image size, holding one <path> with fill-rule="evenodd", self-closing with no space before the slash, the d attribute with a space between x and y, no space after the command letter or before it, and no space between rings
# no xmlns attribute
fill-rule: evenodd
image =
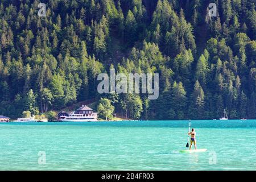
<svg viewBox="0 0 256 182"><path fill-rule="evenodd" d="M256 120L0 123L1 170L256 170ZM45 154L45 155L44 155ZM44 160L45 159L45 160ZM44 163L45 161L45 163Z"/></svg>

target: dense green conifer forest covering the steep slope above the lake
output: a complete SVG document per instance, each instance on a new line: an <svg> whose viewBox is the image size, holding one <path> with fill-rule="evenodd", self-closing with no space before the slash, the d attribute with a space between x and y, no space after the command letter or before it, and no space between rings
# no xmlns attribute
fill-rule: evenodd
<svg viewBox="0 0 256 182"><path fill-rule="evenodd" d="M135 119L256 118L254 0L40 2L0 0L0 115L105 97ZM110 68L159 73L158 100L98 94Z"/></svg>

